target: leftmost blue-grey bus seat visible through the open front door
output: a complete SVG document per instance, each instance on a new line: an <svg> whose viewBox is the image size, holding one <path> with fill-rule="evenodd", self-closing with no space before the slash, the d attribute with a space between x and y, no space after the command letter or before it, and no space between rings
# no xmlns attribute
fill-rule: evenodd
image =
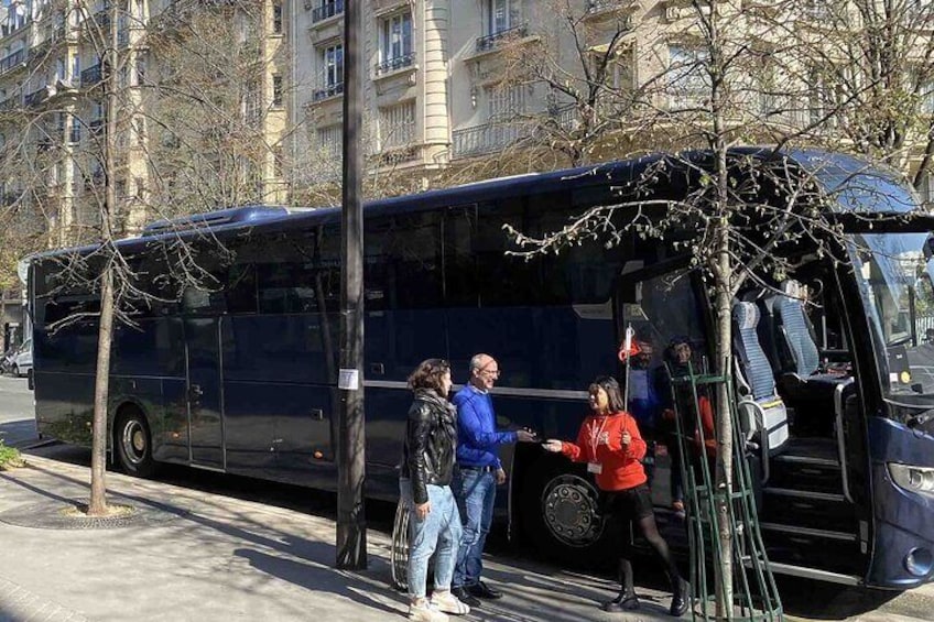
<svg viewBox="0 0 934 622"><path fill-rule="evenodd" d="M738 402L741 425L762 451L763 481L768 480L768 459L780 452L789 439L789 416L784 402L775 392L775 379L769 359L759 342L759 308L753 303L738 302L732 307L734 343L738 365L738 384L748 394Z"/></svg>

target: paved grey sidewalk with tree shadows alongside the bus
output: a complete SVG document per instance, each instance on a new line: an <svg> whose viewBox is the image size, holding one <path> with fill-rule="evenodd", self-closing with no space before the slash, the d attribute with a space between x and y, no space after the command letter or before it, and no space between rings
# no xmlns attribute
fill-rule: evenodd
<svg viewBox="0 0 934 622"><path fill-rule="evenodd" d="M28 460L0 472L0 517L87 499L86 467ZM404 619L383 533L368 533L366 572L339 571L330 520L112 472L107 483L110 503L160 520L93 530L0 522L0 621ZM639 590L641 610L607 614L595 602L611 594L608 581L524 560L490 560L487 575L507 596L467 620L671 620L669 594L649 589Z"/></svg>

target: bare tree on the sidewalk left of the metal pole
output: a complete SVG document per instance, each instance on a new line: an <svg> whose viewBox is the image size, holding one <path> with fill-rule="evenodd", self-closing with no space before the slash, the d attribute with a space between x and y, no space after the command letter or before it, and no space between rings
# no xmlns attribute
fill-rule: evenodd
<svg viewBox="0 0 934 622"><path fill-rule="evenodd" d="M115 325L133 326L141 307L176 299L185 287L215 286L198 244L221 261L229 255L207 234L195 242L164 237L151 251L171 266L171 283L154 292L146 287L151 275L118 240L152 216L284 196L272 179L278 139L270 135L285 129L270 130L272 117L284 118L276 100L281 84L271 78L281 58L263 43L270 7L182 1L148 15L139 2L51 2L48 15L40 17L47 44L35 48L24 90L43 86L0 113L0 127L15 134L7 152L18 157L10 161L22 171L12 177L11 200L45 218L47 245L86 244L40 261L56 263L53 296L83 292L94 298L47 325L52 332L83 323L97 329L91 515L109 511L105 458ZM61 45L96 63L50 79L50 67L61 69Z"/></svg>

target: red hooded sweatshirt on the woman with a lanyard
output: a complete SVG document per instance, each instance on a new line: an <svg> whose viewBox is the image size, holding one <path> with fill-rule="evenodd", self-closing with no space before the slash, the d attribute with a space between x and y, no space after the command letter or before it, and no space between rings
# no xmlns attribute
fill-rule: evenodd
<svg viewBox="0 0 934 622"><path fill-rule="evenodd" d="M623 432L632 437L629 447L622 446ZM595 476L600 490L627 490L648 481L640 461L645 456L645 441L636 418L626 412L590 415L580 426L577 443L563 441L561 452L575 462L599 465Z"/></svg>

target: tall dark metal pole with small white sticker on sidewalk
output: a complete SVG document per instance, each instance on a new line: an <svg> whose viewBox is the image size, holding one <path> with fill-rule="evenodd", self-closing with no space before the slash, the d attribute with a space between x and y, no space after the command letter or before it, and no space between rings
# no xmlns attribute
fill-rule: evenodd
<svg viewBox="0 0 934 622"><path fill-rule="evenodd" d="M340 217L340 419L337 443L337 567L367 567L363 512L363 159L359 0L344 2L344 210Z"/></svg>

